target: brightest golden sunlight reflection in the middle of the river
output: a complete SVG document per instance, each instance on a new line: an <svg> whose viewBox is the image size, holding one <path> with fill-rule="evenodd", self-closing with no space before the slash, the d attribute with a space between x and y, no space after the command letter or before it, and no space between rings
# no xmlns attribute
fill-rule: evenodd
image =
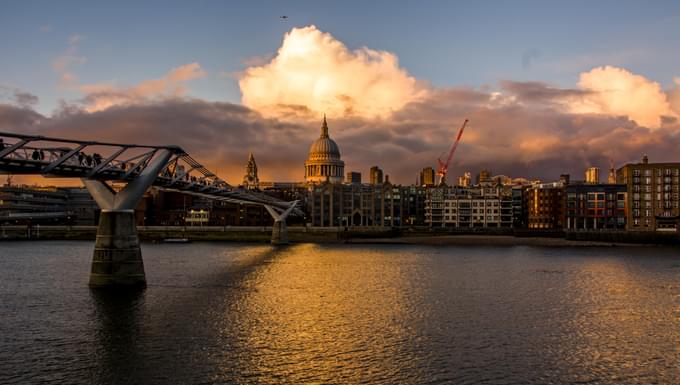
<svg viewBox="0 0 680 385"><path fill-rule="evenodd" d="M400 353L418 324L409 305L417 266L375 263L384 258L394 254L311 244L280 252L244 298L245 370L265 383L357 383L417 367Z"/></svg>

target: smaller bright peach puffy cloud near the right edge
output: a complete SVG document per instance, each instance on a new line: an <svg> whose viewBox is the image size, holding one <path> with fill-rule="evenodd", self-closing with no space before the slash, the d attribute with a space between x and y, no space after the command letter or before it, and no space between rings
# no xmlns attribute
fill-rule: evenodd
<svg viewBox="0 0 680 385"><path fill-rule="evenodd" d="M588 93L570 101L574 113L624 115L649 128L678 117L659 83L623 68L593 68L581 73L578 86Z"/></svg>

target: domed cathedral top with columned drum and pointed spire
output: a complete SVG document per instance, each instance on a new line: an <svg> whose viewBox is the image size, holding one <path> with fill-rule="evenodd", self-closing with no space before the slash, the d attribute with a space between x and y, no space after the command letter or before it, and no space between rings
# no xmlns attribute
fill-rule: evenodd
<svg viewBox="0 0 680 385"><path fill-rule="evenodd" d="M309 148L309 156L305 162L305 182L342 183L344 173L345 162L340 159L338 145L328 135L328 123L324 115L321 135Z"/></svg>

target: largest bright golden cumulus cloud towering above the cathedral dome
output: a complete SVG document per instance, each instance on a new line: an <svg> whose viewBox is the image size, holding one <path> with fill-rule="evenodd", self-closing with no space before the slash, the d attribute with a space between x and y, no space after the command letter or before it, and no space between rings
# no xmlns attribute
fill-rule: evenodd
<svg viewBox="0 0 680 385"><path fill-rule="evenodd" d="M243 104L269 116L300 105L317 115L386 117L427 94L394 54L350 51L313 25L288 32L276 56L246 68L239 86Z"/></svg>

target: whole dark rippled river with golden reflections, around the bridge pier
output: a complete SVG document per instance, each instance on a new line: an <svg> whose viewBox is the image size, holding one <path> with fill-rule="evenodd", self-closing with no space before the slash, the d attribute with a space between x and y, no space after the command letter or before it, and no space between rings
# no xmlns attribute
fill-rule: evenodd
<svg viewBox="0 0 680 385"><path fill-rule="evenodd" d="M677 248L0 243L0 384L680 383Z"/></svg>

